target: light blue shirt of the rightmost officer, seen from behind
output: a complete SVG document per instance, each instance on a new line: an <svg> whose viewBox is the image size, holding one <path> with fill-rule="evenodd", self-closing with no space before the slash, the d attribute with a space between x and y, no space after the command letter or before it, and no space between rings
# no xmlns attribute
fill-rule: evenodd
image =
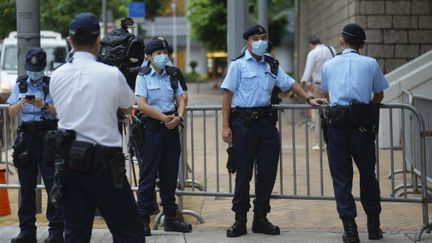
<svg viewBox="0 0 432 243"><path fill-rule="evenodd" d="M345 49L324 63L320 88L329 93L330 106L352 101L369 104L373 93L389 87L377 61L353 51Z"/></svg>

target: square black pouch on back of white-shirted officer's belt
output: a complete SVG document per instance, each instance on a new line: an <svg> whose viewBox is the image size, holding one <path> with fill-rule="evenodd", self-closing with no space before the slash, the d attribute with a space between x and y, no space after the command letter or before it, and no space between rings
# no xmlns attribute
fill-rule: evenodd
<svg viewBox="0 0 432 243"><path fill-rule="evenodd" d="M75 141L69 156L69 169L79 172L90 172L93 163L94 145L92 143Z"/></svg>

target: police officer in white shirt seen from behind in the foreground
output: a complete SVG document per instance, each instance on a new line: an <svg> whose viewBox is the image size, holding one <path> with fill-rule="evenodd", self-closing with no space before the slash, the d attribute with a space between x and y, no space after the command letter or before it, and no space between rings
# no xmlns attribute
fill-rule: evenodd
<svg viewBox="0 0 432 243"><path fill-rule="evenodd" d="M142 243L144 225L125 175L116 117L136 98L117 67L96 61L99 33L93 14L72 19L73 58L53 72L50 85L59 128L76 137L62 176L65 241L90 242L97 207L114 242Z"/></svg>

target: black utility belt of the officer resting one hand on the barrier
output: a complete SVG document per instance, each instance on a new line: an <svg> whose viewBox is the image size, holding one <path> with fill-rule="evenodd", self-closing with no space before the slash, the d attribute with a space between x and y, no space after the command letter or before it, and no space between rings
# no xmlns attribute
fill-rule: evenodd
<svg viewBox="0 0 432 243"><path fill-rule="evenodd" d="M236 107L231 111L231 117L244 119L246 126L250 126L254 121L260 119L267 119L274 125L278 121L277 110L272 106Z"/></svg>

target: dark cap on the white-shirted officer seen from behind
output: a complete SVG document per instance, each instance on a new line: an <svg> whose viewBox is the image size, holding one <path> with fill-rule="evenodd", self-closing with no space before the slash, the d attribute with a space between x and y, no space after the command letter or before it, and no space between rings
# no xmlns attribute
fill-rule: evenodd
<svg viewBox="0 0 432 243"><path fill-rule="evenodd" d="M69 26L69 34L77 31L98 35L100 33L99 21L92 13L80 13L75 15Z"/></svg>

